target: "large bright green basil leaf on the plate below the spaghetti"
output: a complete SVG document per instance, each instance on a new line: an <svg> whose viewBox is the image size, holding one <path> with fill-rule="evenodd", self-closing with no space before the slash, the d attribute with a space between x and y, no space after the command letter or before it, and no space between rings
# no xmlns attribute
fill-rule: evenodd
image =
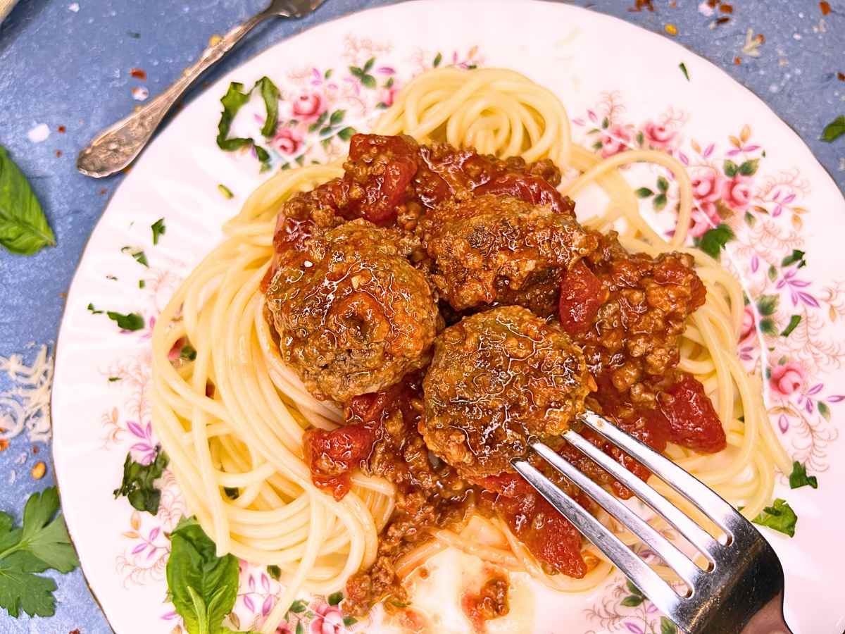
<svg viewBox="0 0 845 634"><path fill-rule="evenodd" d="M218 557L196 520L179 522L170 536L167 588L188 634L217 634L237 598L237 558Z"/></svg>

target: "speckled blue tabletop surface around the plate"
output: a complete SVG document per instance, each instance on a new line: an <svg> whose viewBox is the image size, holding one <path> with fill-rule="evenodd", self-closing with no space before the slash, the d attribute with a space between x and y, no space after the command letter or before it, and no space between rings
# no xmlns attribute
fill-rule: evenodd
<svg viewBox="0 0 845 634"><path fill-rule="evenodd" d="M728 24L711 29L697 0L653 0L654 12L631 11L634 0L576 2L673 39L724 68L762 97L792 126L820 163L845 188L845 138L820 142L826 123L845 114L845 0L830 0L822 16L815 0L733 0ZM0 249L0 355L25 353L53 342L68 288L92 227L121 176L94 180L74 168L75 157L101 128L139 104L131 90L157 94L181 74L206 46L257 12L261 0L20 0L0 25L0 145L30 178L56 232L57 246L32 257ZM329 0L316 14L297 22L275 20L259 27L206 79L235 68L286 36L327 19L384 0ZM78 5L79 10L74 11ZM718 15L718 14L717 14ZM762 33L760 57L744 55L746 30ZM668 37L668 36L667 36ZM739 57L741 63L734 63ZM145 81L130 76L143 68ZM202 90L198 85L196 90ZM192 94L188 95L188 100ZM27 132L46 123L50 136L32 143ZM60 134L59 126L66 132ZM209 134L214 134L210 122ZM62 155L57 156L57 150ZM0 389L8 380L0 376ZM30 493L53 484L52 469L35 481L30 469L49 465L49 447L19 437L0 452L0 510L19 516ZM24 461L19 464L20 461ZM14 484L9 473L16 470ZM57 576L59 605L50 619L19 620L0 614L0 632L107 634L111 631L79 571Z"/></svg>

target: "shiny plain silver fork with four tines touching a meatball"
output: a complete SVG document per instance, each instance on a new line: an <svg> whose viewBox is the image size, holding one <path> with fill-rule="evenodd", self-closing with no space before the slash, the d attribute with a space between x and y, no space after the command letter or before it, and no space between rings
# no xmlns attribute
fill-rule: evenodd
<svg viewBox="0 0 845 634"><path fill-rule="evenodd" d="M532 444L532 449L543 460L583 489L677 572L688 588L686 594L679 594L664 582L657 572L608 528L529 462L515 460L513 466L516 471L586 538L596 544L663 614L688 634L791 634L783 618L781 563L751 522L690 473L604 418L587 412L581 419L588 428L594 429L629 453L657 478L690 500L726 533L727 538L724 540L711 537L710 533L612 456L571 429L564 434L566 440L633 491L695 546L708 560L709 566L702 570L655 528L570 462L540 442Z"/></svg>

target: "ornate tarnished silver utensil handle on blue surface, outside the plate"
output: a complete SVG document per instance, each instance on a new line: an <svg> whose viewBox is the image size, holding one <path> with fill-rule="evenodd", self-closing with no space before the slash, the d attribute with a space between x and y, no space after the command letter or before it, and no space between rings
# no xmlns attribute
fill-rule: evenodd
<svg viewBox="0 0 845 634"><path fill-rule="evenodd" d="M254 15L243 25L237 25L221 37L220 41L206 48L196 63L185 68L182 77L161 95L155 97L138 112L121 119L111 128L101 132L85 150L79 152L76 168L86 176L102 178L128 166L144 149L144 145L147 145L161 120L184 91L188 90L188 86L193 84L205 70L219 62L238 41L241 41L243 36L265 19L304 18L324 2L325 0L272 0L270 6L260 14Z"/></svg>

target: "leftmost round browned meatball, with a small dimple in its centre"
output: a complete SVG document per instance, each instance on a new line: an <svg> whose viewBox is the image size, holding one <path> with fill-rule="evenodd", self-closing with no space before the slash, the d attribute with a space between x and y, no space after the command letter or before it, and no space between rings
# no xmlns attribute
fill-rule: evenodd
<svg viewBox="0 0 845 634"><path fill-rule="evenodd" d="M412 240L359 219L288 249L266 298L282 358L320 399L383 390L430 358L439 314Z"/></svg>

